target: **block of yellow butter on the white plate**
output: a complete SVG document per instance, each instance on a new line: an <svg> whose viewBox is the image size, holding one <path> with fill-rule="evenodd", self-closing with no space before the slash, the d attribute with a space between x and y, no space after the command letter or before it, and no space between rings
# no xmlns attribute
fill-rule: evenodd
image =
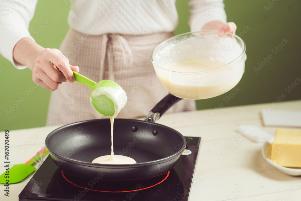
<svg viewBox="0 0 301 201"><path fill-rule="evenodd" d="M271 160L284 167L301 168L301 130L277 129Z"/></svg>

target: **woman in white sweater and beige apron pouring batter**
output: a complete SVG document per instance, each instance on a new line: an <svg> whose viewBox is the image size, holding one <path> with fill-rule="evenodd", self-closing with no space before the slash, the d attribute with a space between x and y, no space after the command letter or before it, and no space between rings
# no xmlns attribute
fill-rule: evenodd
<svg viewBox="0 0 301 201"><path fill-rule="evenodd" d="M38 86L53 91L48 110L53 125L100 118L89 102L92 89L73 83L72 70L80 69L95 82L113 80L125 90L128 100L118 118L145 117L167 94L150 58L160 42L173 36L178 23L175 1L73 0L70 30L60 50L45 49L30 36L28 26L36 2L14 2L9 12L0 14L0 53L18 69L27 66ZM2 1L0 10L7 10L10 3ZM190 0L189 6L191 31L219 30L220 36L235 33L236 25L226 23L222 1ZM195 110L194 100L182 100L169 112L189 110Z"/></svg>

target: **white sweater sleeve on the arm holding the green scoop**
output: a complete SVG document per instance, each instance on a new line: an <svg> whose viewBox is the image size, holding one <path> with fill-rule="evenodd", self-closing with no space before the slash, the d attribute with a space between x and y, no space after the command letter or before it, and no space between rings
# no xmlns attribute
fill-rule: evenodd
<svg viewBox="0 0 301 201"><path fill-rule="evenodd" d="M16 65L13 49L17 42L25 37L31 38L28 31L38 0L1 0L0 3L0 54L11 61L18 69L26 66Z"/></svg>

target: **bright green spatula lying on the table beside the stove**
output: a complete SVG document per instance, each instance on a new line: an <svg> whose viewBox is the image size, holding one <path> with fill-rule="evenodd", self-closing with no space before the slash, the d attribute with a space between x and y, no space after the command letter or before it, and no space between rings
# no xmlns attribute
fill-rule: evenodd
<svg viewBox="0 0 301 201"><path fill-rule="evenodd" d="M43 156L48 154L49 152L47 150L41 151ZM15 184L20 181L23 181L26 177L28 177L31 173L36 171L36 168L32 165L35 164L35 160L41 159L40 152L34 156L31 160L26 162L25 164L18 164L14 165L11 168L9 168L8 172L3 172L3 174L0 175L0 183L1 184ZM9 163L7 163L9 164ZM8 182L7 182L8 181Z"/></svg>

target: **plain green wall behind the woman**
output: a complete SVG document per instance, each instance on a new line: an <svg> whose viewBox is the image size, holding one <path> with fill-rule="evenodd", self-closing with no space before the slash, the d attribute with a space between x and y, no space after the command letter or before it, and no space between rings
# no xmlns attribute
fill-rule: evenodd
<svg viewBox="0 0 301 201"><path fill-rule="evenodd" d="M70 8L70 4L66 5L65 2L38 1L29 31L41 46L59 48L64 39L69 29L67 15ZM214 108L220 103L228 107L275 102L282 93L286 95L284 101L301 99L301 84L296 85L290 93L286 91L286 87L301 75L299 61L301 2L296 0L227 0L224 2L228 21L237 24L236 34L241 36L247 45L245 73L237 85L240 89L239 93L231 100L227 98L231 95L230 91L211 99L197 100L197 108ZM176 35L190 30L187 24L189 18L187 4L188 0L177 1L179 24L175 30ZM268 5L271 9L267 9ZM39 28L44 20L48 20L50 24L37 35L34 30ZM250 29L247 32L245 29L246 33L243 33L245 27ZM272 49L281 44L282 39L287 39L289 42L274 55ZM272 54L273 58L256 74L254 68L257 68L258 62L262 62L269 54ZM17 70L0 55L0 84L1 131L45 126L50 91L41 87L31 88L34 83L29 69ZM29 94L26 90L32 92ZM10 106L20 98L24 101L7 115L5 110L9 110Z"/></svg>

